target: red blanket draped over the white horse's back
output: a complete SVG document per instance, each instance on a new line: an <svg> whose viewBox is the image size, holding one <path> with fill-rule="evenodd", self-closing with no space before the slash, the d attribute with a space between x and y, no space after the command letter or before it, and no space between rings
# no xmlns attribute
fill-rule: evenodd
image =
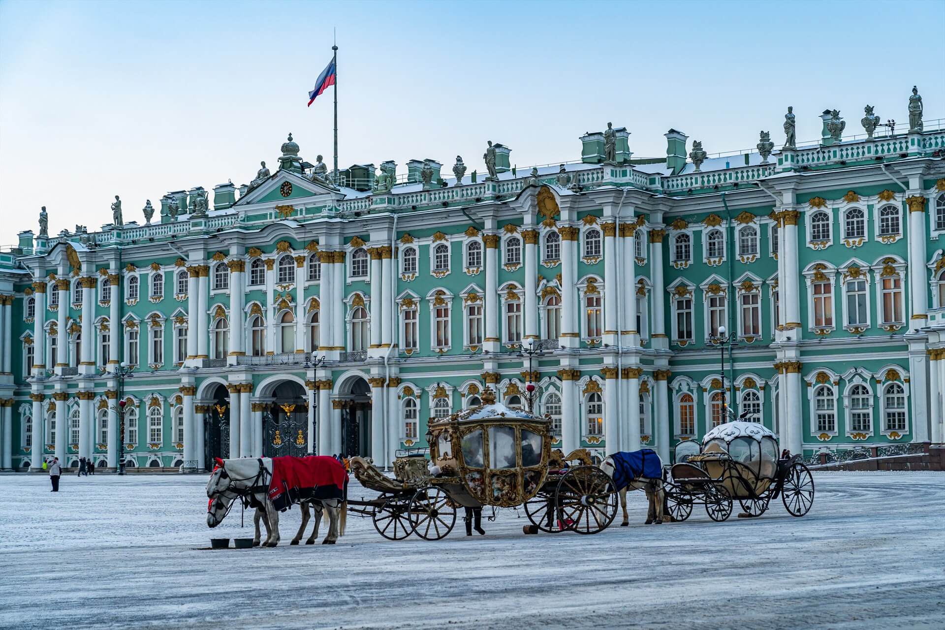
<svg viewBox="0 0 945 630"><path fill-rule="evenodd" d="M273 457L269 501L283 511L305 499L339 499L345 496L348 473L334 457Z"/></svg>

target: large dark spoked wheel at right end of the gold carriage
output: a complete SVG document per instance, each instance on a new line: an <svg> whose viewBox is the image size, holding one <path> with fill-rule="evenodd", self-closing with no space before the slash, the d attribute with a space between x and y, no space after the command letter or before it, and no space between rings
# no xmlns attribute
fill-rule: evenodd
<svg viewBox="0 0 945 630"><path fill-rule="evenodd" d="M578 466L558 482L555 504L561 529L578 534L597 534L617 516L617 493L613 480L600 468Z"/></svg>

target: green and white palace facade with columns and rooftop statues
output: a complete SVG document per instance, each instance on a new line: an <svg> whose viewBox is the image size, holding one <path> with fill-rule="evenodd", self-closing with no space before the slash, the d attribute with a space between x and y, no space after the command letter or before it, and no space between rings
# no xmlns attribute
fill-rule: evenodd
<svg viewBox="0 0 945 630"><path fill-rule="evenodd" d="M487 387L533 397L564 451L668 459L726 405L795 452L941 441L945 128L908 108L860 136L825 111L807 144L788 111L784 145L718 157L671 129L634 158L610 125L551 166L490 143L450 179L329 172L290 136L272 172L144 224L116 199L48 236L43 210L0 253L0 466L384 464Z"/></svg>

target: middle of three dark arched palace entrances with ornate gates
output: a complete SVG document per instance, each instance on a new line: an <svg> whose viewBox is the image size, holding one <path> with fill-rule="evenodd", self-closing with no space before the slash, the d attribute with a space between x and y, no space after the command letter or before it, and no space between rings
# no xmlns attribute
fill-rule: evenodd
<svg viewBox="0 0 945 630"><path fill-rule="evenodd" d="M274 399L263 412L263 456L301 456L308 452L308 400L295 381L272 390Z"/></svg>

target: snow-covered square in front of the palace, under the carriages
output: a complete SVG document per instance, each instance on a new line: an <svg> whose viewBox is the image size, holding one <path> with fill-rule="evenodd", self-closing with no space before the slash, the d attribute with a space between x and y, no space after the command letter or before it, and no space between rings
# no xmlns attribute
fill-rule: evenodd
<svg viewBox="0 0 945 630"><path fill-rule="evenodd" d="M334 547L290 547L293 509L276 549L201 551L251 536L235 510L207 528L203 476L67 476L53 494L0 475L0 628L945 627L945 474L815 481L802 519L779 502L644 526L635 492L631 526L597 536L524 536L501 510L487 536L457 519L392 542L352 517Z"/></svg>

